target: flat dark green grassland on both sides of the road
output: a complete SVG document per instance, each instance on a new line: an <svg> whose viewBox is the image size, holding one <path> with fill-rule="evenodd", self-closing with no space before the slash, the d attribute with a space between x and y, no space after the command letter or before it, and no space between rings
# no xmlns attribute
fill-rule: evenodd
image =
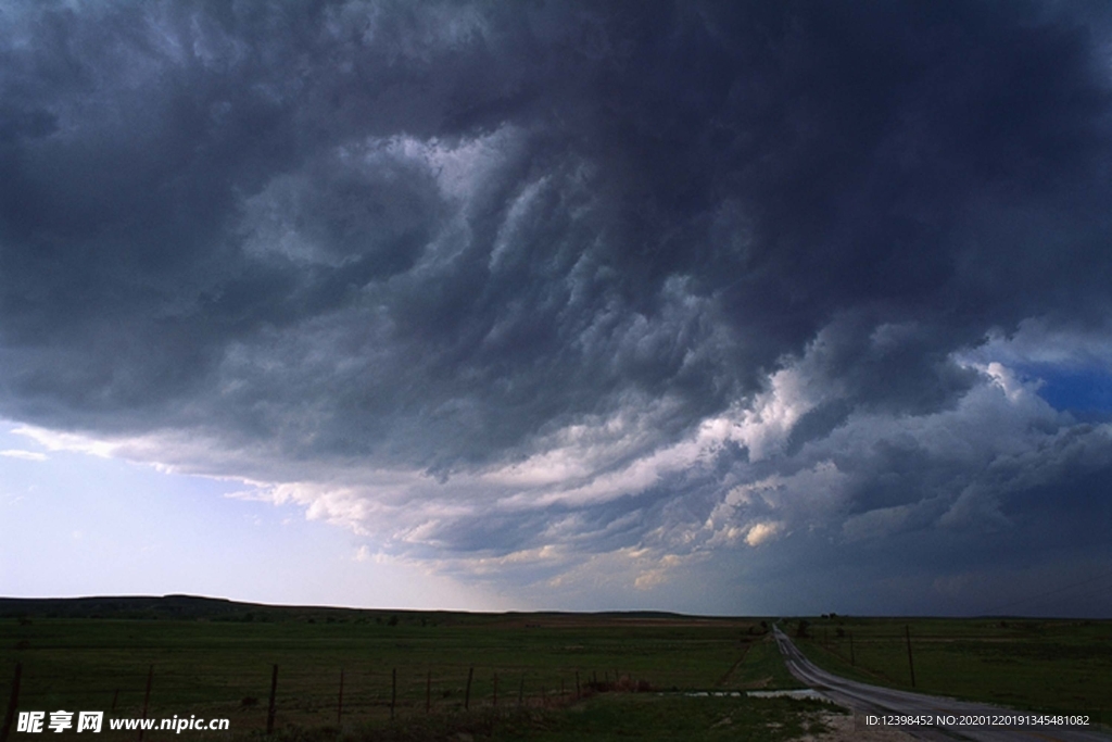
<svg viewBox="0 0 1112 742"><path fill-rule="evenodd" d="M266 729L277 665L272 739L282 741L817 734L825 704L745 695L800 687L771 641L773 621L0 598L0 700L18 662L20 710L139 716L150 677L149 718L227 718L231 733L145 739L254 739ZM825 616L780 625L845 676L912 687L910 635L917 691L1108 723L1109 621Z"/></svg>

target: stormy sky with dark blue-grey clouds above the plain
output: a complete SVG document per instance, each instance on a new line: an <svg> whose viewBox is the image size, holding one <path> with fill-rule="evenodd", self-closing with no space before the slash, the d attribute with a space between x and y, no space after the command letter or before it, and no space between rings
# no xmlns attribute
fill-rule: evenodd
<svg viewBox="0 0 1112 742"><path fill-rule="evenodd" d="M0 594L1112 617L1112 7L0 4Z"/></svg>

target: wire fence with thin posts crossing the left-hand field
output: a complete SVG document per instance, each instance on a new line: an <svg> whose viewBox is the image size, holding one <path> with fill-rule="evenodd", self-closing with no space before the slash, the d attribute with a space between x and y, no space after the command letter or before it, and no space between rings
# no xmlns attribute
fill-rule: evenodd
<svg viewBox="0 0 1112 742"><path fill-rule="evenodd" d="M651 687L647 681L616 669L537 672L483 665L354 664L320 672L272 664L245 679L219 672L199 676L157 665L142 673L132 670L77 676L29 671L17 662L0 742L11 739L11 720L19 711L89 710L103 711L109 718L200 713L231 719L236 730L270 733L289 725L342 725L419 714L557 708L602 692ZM246 693L244 689L248 689Z"/></svg>

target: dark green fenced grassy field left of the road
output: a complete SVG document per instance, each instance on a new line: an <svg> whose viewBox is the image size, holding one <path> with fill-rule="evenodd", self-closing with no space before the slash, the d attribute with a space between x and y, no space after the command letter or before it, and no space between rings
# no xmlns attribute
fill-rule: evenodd
<svg viewBox="0 0 1112 742"><path fill-rule="evenodd" d="M228 718L238 735L265 728L275 664L276 728L324 729L320 739L336 736L341 671L340 724L348 730L389 728L394 699L398 729L479 724L492 734L483 720L497 710L496 739L583 739L585 728L600 729L634 709L641 721L629 720L627 731L641 739L718 739L747 724L759 726L748 730L753 739L788 739L785 730L802 729L791 721L797 714L781 726L766 726L764 715L806 708L684 695L797 686L755 621L294 610L169 620L61 614L0 617L0 699L8 698L18 661L21 710L138 716L153 669L149 716ZM587 700L574 703L577 692ZM636 731L656 716L673 723L657 719ZM704 736L692 736L691 724Z"/></svg>

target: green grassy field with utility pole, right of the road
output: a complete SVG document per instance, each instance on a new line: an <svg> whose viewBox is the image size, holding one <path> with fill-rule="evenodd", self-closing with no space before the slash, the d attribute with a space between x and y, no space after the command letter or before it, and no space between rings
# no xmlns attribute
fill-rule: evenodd
<svg viewBox="0 0 1112 742"><path fill-rule="evenodd" d="M1032 619L852 619L782 622L815 664L846 677L1015 709L1112 708L1112 622ZM911 635L912 662L906 633Z"/></svg>

